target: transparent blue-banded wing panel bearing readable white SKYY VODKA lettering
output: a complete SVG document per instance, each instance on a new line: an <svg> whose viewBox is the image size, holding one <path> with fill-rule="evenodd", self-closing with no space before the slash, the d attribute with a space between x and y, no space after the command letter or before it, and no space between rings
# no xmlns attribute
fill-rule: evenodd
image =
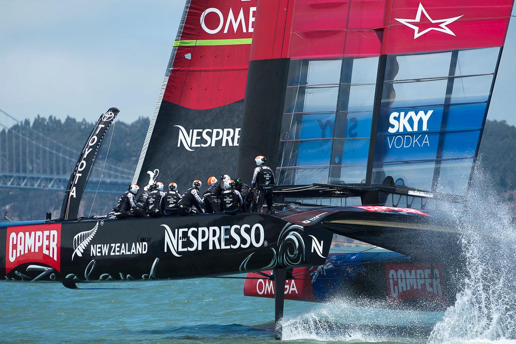
<svg viewBox="0 0 516 344"><path fill-rule="evenodd" d="M388 56L372 183L392 176L465 193L498 55L487 48Z"/></svg>

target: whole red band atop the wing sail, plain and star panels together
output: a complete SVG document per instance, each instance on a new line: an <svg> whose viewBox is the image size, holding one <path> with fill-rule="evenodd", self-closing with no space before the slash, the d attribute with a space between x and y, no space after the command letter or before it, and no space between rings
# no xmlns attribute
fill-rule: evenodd
<svg viewBox="0 0 516 344"><path fill-rule="evenodd" d="M501 46L512 3L297 0L288 56L363 57Z"/></svg>

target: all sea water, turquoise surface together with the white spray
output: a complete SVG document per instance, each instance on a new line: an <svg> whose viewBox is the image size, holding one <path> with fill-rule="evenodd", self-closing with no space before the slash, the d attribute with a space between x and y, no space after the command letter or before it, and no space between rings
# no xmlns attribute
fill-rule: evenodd
<svg viewBox="0 0 516 344"><path fill-rule="evenodd" d="M463 232L466 277L445 312L389 310L365 300L286 301L294 342L516 342L516 234L488 178L475 173ZM430 244L430 243L429 243ZM70 290L0 283L0 342L275 342L272 299L243 296L242 279L102 284Z"/></svg>

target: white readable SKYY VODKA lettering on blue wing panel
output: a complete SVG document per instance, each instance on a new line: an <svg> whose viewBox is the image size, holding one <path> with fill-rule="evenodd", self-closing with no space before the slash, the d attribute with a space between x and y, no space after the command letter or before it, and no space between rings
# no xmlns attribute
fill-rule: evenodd
<svg viewBox="0 0 516 344"><path fill-rule="evenodd" d="M398 135L387 136L389 148L430 147L428 134L412 133L428 131L428 119L432 113L433 110L391 113L389 116L391 126L388 132Z"/></svg>

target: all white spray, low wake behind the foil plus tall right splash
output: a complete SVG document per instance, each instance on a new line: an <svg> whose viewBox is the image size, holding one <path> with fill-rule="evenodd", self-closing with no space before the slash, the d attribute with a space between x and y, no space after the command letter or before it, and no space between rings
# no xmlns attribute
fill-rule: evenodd
<svg viewBox="0 0 516 344"><path fill-rule="evenodd" d="M516 230L511 223L515 215L499 199L490 176L475 170L464 209L447 208L460 224L465 271L455 305L443 317L439 312L382 309L366 300L333 300L285 319L283 339L516 343ZM342 325L350 323L361 325ZM407 333L393 335L396 324L404 324Z"/></svg>

